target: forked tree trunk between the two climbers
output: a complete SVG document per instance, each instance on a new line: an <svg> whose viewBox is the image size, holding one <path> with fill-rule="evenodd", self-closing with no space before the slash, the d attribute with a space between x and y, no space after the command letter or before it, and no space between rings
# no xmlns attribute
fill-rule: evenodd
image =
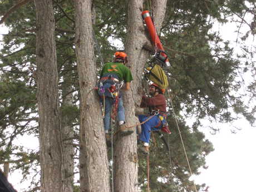
<svg viewBox="0 0 256 192"><path fill-rule="evenodd" d="M148 33L143 25L141 13L142 0L129 1L128 7L128 26L127 26L127 44L125 51L128 54L129 63L134 81L131 82L131 91L124 94L124 106L127 125L135 125L138 120L135 117L135 107L139 107L141 101L141 77L144 66L150 52L145 50L144 45L148 45ZM164 16L166 1L152 1L157 21L163 22L160 18ZM157 12L156 12L157 11ZM160 12L163 11L164 13ZM160 18L159 18L160 17ZM159 27L161 23L159 24ZM135 127L133 127L135 130ZM136 134L126 137L118 137L115 143L115 161L114 161L114 181L116 192L138 191L137 186L137 140Z"/></svg>

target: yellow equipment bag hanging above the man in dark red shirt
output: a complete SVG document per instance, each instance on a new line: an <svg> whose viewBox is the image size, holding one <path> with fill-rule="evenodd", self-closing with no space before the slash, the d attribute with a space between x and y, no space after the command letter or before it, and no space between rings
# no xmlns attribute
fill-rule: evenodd
<svg viewBox="0 0 256 192"><path fill-rule="evenodd" d="M146 73L146 77L150 81L159 85L159 88L166 89L168 87L168 78L165 75L163 68L159 65L154 65L154 67L147 67L147 70L149 73Z"/></svg>

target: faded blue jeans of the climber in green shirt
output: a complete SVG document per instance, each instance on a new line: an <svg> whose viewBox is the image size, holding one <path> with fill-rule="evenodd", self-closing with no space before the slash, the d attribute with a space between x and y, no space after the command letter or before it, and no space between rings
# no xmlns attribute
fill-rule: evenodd
<svg viewBox="0 0 256 192"><path fill-rule="evenodd" d="M103 106L103 99L101 99L101 104ZM114 102L115 104L115 102ZM113 99L105 97L105 117L104 117L104 129L109 130L110 128L110 119L111 119L111 108L113 104ZM119 121L125 121L125 107L122 102L122 97L119 98L117 104L117 117Z"/></svg>

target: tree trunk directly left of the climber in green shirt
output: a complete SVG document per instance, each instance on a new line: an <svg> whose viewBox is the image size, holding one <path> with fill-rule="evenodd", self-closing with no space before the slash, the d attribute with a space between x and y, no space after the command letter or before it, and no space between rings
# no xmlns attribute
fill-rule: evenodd
<svg viewBox="0 0 256 192"><path fill-rule="evenodd" d="M109 165L99 97L91 91L97 82L93 58L91 1L76 0L76 56L80 82L81 192L110 191Z"/></svg>

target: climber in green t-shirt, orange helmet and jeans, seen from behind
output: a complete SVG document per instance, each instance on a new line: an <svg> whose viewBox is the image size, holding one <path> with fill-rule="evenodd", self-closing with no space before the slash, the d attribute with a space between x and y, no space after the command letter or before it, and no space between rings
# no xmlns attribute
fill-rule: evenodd
<svg viewBox="0 0 256 192"><path fill-rule="evenodd" d="M115 103L116 99L118 101L117 117L119 119L121 134L130 135L132 132L134 132L132 129L128 129L125 125L125 109L121 95L118 94L117 97L113 96L115 91L117 93L119 92L119 90L116 89L118 89L121 85L121 81L125 82L125 91L130 89L130 82L133 80L133 78L130 69L125 66L125 63L127 63L126 53L116 52L114 61L106 63L100 73L100 82L102 84L103 91L102 87L99 87L98 93L101 96L101 102L103 102L102 92L104 92L105 96L104 129L107 141L110 139L108 132L110 129L111 106Z"/></svg>

